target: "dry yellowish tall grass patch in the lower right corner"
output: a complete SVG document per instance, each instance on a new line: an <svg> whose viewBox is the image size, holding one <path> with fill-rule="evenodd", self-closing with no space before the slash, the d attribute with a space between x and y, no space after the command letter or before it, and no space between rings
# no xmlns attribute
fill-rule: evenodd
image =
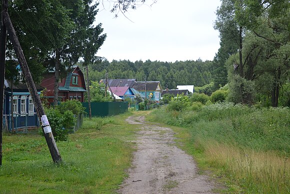
<svg viewBox="0 0 290 194"><path fill-rule="evenodd" d="M205 155L212 166L222 166L248 193L289 193L290 161L275 152L242 150L207 142Z"/></svg>

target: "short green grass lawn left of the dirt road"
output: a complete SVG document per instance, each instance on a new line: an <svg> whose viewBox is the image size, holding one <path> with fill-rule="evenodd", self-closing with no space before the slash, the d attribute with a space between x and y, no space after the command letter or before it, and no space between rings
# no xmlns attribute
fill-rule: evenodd
<svg viewBox="0 0 290 194"><path fill-rule="evenodd" d="M136 126L124 121L131 112L84 119L83 127L57 142L63 162L54 164L44 137L4 134L0 193L111 193L129 167Z"/></svg>

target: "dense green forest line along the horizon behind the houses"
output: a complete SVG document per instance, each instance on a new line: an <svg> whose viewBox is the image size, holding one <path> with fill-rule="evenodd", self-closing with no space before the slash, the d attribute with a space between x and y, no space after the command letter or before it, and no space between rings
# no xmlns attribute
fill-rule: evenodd
<svg viewBox="0 0 290 194"><path fill-rule="evenodd" d="M214 63L212 61L135 61L103 60L98 64L90 64L89 80L99 81L105 78L108 72L109 79L132 78L137 81L160 81L162 88L175 89L176 85L204 86L214 81L224 85L226 77L215 75Z"/></svg>

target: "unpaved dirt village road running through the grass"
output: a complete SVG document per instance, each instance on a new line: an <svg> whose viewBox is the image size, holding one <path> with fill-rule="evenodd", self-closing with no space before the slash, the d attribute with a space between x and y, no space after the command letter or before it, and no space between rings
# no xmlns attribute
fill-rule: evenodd
<svg viewBox="0 0 290 194"><path fill-rule="evenodd" d="M119 193L211 193L214 184L175 146L170 128L147 124L142 116L126 121L140 130L132 168Z"/></svg>

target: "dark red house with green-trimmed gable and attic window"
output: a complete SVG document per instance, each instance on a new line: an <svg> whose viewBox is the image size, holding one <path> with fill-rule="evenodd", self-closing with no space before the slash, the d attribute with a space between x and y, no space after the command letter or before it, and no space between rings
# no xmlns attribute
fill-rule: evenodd
<svg viewBox="0 0 290 194"><path fill-rule="evenodd" d="M47 89L45 96L49 103L53 103L54 72L43 75L41 86ZM78 66L68 70L65 78L61 79L58 86L58 101L79 100L83 102L83 94L86 92L84 76Z"/></svg>

